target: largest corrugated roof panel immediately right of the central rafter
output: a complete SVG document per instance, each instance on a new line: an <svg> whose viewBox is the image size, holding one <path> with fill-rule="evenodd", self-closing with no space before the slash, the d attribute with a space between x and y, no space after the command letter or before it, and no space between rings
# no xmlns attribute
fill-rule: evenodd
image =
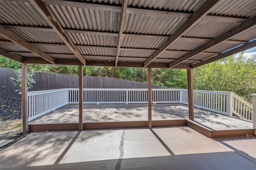
<svg viewBox="0 0 256 170"><path fill-rule="evenodd" d="M186 20L186 18L128 13L124 22L124 32L171 35Z"/></svg>

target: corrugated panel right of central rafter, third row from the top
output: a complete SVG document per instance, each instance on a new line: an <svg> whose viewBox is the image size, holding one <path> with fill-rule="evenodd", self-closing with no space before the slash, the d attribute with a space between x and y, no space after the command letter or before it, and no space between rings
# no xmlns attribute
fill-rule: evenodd
<svg viewBox="0 0 256 170"><path fill-rule="evenodd" d="M142 37L122 37L121 47L157 49L166 40L167 39L153 39L153 38L142 38Z"/></svg>

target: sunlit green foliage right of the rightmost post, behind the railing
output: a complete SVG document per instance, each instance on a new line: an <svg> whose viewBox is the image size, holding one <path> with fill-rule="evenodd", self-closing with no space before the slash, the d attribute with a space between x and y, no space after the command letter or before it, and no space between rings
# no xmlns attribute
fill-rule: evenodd
<svg viewBox="0 0 256 170"><path fill-rule="evenodd" d="M243 53L194 69L194 89L235 92L248 102L256 93L256 55Z"/></svg>

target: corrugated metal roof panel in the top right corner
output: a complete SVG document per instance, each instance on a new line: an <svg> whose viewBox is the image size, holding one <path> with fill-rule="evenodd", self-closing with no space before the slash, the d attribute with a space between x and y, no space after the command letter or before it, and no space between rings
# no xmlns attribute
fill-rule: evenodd
<svg viewBox="0 0 256 170"><path fill-rule="evenodd" d="M218 4L210 13L220 16L250 18L252 15L256 14L255 9L255 0L223 0L222 3Z"/></svg>

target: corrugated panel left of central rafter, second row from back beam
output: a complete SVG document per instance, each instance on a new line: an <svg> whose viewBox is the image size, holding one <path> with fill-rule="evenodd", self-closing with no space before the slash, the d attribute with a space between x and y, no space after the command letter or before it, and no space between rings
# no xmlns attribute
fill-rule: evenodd
<svg viewBox="0 0 256 170"><path fill-rule="evenodd" d="M82 55L116 56L116 49L98 49L83 47L78 47L77 49Z"/></svg>

